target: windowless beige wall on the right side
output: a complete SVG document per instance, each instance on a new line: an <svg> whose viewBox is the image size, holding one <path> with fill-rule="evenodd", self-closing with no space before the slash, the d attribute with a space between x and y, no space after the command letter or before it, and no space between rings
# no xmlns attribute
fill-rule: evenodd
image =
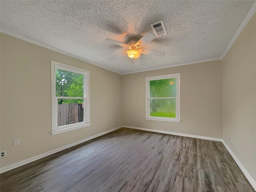
<svg viewBox="0 0 256 192"><path fill-rule="evenodd" d="M256 181L256 14L223 60L223 139Z"/></svg>

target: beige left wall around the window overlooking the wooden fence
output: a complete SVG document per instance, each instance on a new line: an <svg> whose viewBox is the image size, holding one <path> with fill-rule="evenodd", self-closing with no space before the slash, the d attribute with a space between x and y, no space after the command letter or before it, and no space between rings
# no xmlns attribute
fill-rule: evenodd
<svg viewBox="0 0 256 192"><path fill-rule="evenodd" d="M1 33L1 167L122 125L122 76ZM90 70L92 125L52 135L50 60ZM116 124L118 120L118 124ZM13 139L20 146L13 147Z"/></svg>

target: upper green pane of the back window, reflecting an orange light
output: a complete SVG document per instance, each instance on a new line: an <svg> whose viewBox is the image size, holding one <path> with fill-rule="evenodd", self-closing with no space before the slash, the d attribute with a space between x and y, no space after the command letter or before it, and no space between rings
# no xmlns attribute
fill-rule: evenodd
<svg viewBox="0 0 256 192"><path fill-rule="evenodd" d="M151 97L176 97L177 78L152 80L150 83Z"/></svg>

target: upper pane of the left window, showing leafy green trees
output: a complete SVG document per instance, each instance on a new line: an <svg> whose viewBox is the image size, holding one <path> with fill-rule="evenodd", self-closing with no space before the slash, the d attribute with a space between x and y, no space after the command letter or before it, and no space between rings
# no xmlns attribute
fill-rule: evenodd
<svg viewBox="0 0 256 192"><path fill-rule="evenodd" d="M56 96L83 97L84 75L56 69Z"/></svg>

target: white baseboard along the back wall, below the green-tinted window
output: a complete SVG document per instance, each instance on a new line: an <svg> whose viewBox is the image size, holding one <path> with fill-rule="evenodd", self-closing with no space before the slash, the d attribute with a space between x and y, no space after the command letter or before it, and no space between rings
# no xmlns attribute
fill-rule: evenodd
<svg viewBox="0 0 256 192"><path fill-rule="evenodd" d="M184 136L184 137L192 137L192 138L198 138L198 139L206 139L206 140L212 140L212 141L222 141L221 138L206 137L206 136L200 136L200 135L190 135L190 134L184 134L184 133L177 133L177 132L170 132L170 131L162 131L162 130L154 130L154 129L146 129L146 128L140 128L140 127L126 126L126 125L123 125L123 127L131 128L131 129L144 130L144 131L157 132L157 133L165 133L165 134L170 134L170 135L178 135L178 136Z"/></svg>

